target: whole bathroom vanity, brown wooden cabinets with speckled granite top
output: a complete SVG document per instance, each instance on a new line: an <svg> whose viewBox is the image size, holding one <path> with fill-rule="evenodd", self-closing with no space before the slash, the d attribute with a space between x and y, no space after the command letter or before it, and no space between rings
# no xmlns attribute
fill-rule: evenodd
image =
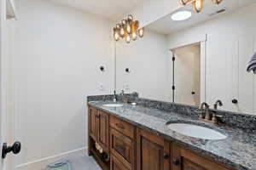
<svg viewBox="0 0 256 170"><path fill-rule="evenodd" d="M256 167L252 140L255 135L236 127L215 127L200 122L196 114L183 115L143 105L106 106L109 103L88 102L89 155L104 170L253 170ZM227 138L185 136L168 128L172 122L212 128ZM245 141L247 138L251 139L249 143ZM96 144L100 145L102 154Z"/></svg>

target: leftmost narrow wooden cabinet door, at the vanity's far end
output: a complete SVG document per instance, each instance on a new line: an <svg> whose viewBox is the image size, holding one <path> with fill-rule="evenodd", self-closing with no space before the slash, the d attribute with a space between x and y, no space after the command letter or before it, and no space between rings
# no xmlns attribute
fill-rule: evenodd
<svg viewBox="0 0 256 170"><path fill-rule="evenodd" d="M90 137L97 141L98 139L98 111L92 107L89 108L89 132Z"/></svg>

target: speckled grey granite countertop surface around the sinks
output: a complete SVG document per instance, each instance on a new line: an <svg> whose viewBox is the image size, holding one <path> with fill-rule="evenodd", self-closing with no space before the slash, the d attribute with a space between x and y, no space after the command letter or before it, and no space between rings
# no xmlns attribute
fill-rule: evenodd
<svg viewBox="0 0 256 170"><path fill-rule="evenodd" d="M177 144L194 150L214 161L224 163L237 170L256 170L256 133L246 133L237 127L213 127L199 122L196 117L183 116L175 112L160 111L140 105L123 104L122 107L107 107L113 101L90 101L88 105L106 111L113 116L137 127L143 127ZM221 140L196 139L176 133L166 126L168 122L189 122L210 127L224 133L227 138Z"/></svg>

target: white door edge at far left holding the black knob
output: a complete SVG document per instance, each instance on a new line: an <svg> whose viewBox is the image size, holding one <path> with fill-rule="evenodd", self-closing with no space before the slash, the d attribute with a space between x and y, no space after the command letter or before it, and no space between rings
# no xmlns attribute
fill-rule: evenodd
<svg viewBox="0 0 256 170"><path fill-rule="evenodd" d="M7 0L0 1L0 149L3 143L13 144L14 129L12 115L9 114L9 58L7 46ZM1 170L14 170L14 156L0 161Z"/></svg>

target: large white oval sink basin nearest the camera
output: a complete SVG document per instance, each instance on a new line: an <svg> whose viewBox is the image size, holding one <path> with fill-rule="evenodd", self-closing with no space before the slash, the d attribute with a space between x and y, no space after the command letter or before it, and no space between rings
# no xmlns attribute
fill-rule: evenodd
<svg viewBox="0 0 256 170"><path fill-rule="evenodd" d="M211 128L196 126L188 123L171 123L167 125L171 130L198 139L226 139L227 137Z"/></svg>

